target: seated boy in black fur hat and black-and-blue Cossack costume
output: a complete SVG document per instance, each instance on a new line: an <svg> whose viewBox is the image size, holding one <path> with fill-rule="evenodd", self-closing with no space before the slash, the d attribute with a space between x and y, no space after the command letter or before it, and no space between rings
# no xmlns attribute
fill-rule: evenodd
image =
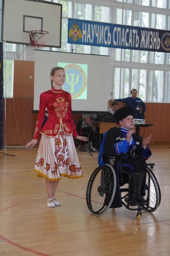
<svg viewBox="0 0 170 256"><path fill-rule="evenodd" d="M103 162L111 164L116 172L116 193L110 208L122 206L119 170L130 175L129 204L131 206L147 204L142 195L146 173L146 160L152 155L148 145L152 134L143 139L135 133L134 112L131 107L122 107L114 114L115 122L120 128L113 127L104 138Z"/></svg>

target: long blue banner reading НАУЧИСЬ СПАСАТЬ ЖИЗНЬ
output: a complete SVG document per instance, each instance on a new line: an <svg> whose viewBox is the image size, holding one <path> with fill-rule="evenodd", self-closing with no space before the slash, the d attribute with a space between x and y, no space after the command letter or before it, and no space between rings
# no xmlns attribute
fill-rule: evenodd
<svg viewBox="0 0 170 256"><path fill-rule="evenodd" d="M68 43L170 52L170 31L68 19Z"/></svg>

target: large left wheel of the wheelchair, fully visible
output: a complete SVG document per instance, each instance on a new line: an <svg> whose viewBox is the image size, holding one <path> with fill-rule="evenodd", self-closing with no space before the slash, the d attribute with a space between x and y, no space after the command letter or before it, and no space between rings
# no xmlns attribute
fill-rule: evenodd
<svg viewBox="0 0 170 256"><path fill-rule="evenodd" d="M87 207L96 216L107 212L116 191L116 174L109 164L97 167L87 185Z"/></svg>

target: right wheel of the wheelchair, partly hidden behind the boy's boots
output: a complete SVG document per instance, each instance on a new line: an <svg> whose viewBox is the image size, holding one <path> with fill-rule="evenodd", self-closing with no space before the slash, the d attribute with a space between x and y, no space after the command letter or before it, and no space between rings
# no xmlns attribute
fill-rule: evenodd
<svg viewBox="0 0 170 256"><path fill-rule="evenodd" d="M152 171L149 169L146 172L146 189L144 199L147 200L149 193L149 206L146 211L155 212L160 204L160 188L158 181L154 178Z"/></svg>

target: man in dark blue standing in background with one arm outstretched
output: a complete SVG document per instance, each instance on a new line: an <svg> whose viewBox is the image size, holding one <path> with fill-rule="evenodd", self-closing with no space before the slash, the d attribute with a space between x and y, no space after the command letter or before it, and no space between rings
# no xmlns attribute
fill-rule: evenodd
<svg viewBox="0 0 170 256"><path fill-rule="evenodd" d="M128 107L132 107L134 110L136 119L145 119L144 113L146 110L146 106L140 98L137 98L137 90L136 89L131 90L131 95L132 95L131 97L127 97L124 99L116 99L116 100L126 103L126 106ZM142 108L142 111L141 111L141 108Z"/></svg>

